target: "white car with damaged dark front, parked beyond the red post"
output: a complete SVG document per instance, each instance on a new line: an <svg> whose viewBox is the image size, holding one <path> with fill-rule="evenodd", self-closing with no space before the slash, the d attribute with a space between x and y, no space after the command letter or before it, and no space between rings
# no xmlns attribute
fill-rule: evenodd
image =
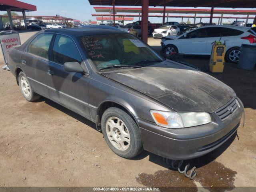
<svg viewBox="0 0 256 192"><path fill-rule="evenodd" d="M162 38L170 35L180 35L180 28L175 25L162 25L152 33L153 38Z"/></svg>

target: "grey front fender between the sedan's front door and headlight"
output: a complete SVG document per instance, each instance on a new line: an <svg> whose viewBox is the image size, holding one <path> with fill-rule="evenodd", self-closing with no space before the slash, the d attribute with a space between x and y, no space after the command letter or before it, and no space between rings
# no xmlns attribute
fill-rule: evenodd
<svg viewBox="0 0 256 192"><path fill-rule="evenodd" d="M114 80L93 72L90 79L89 87L89 106L92 119L96 119L99 106L104 102L114 102L120 104L134 117L146 119L153 122L150 115L151 109L167 110L167 108L159 102L128 88Z"/></svg>

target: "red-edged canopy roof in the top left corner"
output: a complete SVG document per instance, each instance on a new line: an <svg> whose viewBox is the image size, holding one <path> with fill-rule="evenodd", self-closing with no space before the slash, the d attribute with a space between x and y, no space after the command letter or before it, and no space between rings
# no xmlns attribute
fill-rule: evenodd
<svg viewBox="0 0 256 192"><path fill-rule="evenodd" d="M17 0L0 0L0 10L5 11L10 9L11 11L36 11L36 6L24 3Z"/></svg>

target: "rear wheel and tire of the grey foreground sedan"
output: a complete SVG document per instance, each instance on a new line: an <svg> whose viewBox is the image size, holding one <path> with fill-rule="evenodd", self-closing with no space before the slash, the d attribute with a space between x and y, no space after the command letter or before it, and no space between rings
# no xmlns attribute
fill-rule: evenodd
<svg viewBox="0 0 256 192"><path fill-rule="evenodd" d="M26 100L28 100L29 102L32 102L40 98L40 95L34 92L24 72L19 73L18 80L19 80L20 91L22 92L22 95Z"/></svg>

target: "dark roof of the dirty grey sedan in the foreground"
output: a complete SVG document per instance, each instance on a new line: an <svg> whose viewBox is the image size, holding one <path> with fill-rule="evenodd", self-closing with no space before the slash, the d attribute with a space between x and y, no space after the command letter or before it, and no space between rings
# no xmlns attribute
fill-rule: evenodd
<svg viewBox="0 0 256 192"><path fill-rule="evenodd" d="M82 28L62 28L62 29L47 29L44 32L53 32L63 35L73 35L76 37L82 36L96 36L96 35L107 35L107 34L127 34L120 30L105 29L105 28L91 28L91 27L82 27Z"/></svg>

